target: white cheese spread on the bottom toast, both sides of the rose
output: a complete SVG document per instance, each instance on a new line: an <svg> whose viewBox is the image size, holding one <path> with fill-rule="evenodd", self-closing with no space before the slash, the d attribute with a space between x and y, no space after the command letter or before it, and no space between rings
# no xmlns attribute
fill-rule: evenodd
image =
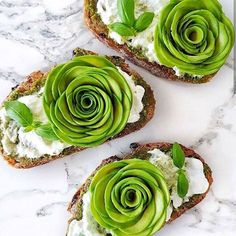
<svg viewBox="0 0 236 236"><path fill-rule="evenodd" d="M166 178L167 185L171 192L171 204L167 208L167 219L171 217L174 208L178 208L184 202L187 202L189 198L195 194L205 193L209 187L209 183L204 175L203 164L196 158L187 157L184 169L187 172L189 179L189 191L185 199L182 199L177 194L176 179L177 171L173 164L172 158L162 152L159 149L153 149L148 153L151 154L149 161L161 169ZM68 229L67 236L99 236L104 233L99 233L97 229L97 223L94 220L90 210L90 192L87 192L83 196L83 218L80 221L73 220ZM109 232L111 235L112 233Z"/></svg>

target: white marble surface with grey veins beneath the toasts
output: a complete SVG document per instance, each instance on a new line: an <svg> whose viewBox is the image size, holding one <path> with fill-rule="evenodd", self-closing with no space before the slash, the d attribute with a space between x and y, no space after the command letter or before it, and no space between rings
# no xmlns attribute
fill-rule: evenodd
<svg viewBox="0 0 236 236"><path fill-rule="evenodd" d="M99 43L82 20L82 0L0 0L0 100L34 70L47 70L80 46L115 54ZM223 1L233 19L233 0ZM65 235L68 202L100 161L129 152L132 142L178 141L210 164L208 197L158 235L232 236L236 232L236 97L233 57L215 79L188 85L156 78L136 66L158 101L141 131L98 148L30 170L0 159L0 236Z"/></svg>

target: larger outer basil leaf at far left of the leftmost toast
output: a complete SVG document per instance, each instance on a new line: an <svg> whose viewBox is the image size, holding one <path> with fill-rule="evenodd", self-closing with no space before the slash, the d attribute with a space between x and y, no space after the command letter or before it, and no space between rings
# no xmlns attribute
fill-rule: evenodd
<svg viewBox="0 0 236 236"><path fill-rule="evenodd" d="M33 123L33 114L30 109L19 101L5 102L7 115L18 125L27 127Z"/></svg>

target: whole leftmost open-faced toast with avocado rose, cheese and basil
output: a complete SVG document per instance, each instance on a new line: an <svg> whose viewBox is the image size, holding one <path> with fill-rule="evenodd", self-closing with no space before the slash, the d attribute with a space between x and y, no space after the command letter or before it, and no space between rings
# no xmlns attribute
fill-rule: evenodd
<svg viewBox="0 0 236 236"><path fill-rule="evenodd" d="M48 73L32 73L0 108L0 151L30 168L141 129L152 117L150 86L120 57L82 49Z"/></svg>

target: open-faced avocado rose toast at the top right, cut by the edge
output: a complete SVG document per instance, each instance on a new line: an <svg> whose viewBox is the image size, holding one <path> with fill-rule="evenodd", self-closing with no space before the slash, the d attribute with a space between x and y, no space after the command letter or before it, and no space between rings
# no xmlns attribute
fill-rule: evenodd
<svg viewBox="0 0 236 236"><path fill-rule="evenodd" d="M218 0L84 0L102 42L154 75L209 81L224 65L234 28Z"/></svg>

